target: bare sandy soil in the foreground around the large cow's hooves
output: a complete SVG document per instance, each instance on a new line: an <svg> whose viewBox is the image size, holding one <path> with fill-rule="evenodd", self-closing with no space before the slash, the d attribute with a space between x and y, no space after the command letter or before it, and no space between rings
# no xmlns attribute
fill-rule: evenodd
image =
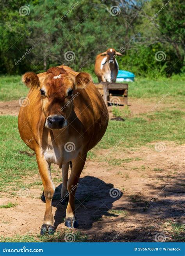
<svg viewBox="0 0 185 256"><path fill-rule="evenodd" d="M87 160L76 191L78 231L87 235L87 241L151 242L159 232L166 241L178 241L170 223L183 221L185 145L165 144L162 152L155 151L155 144L119 152L116 159L130 162L114 166ZM52 176L56 178L55 171ZM55 182L55 187L55 227L63 231L66 206L59 201L61 184ZM0 198L0 205L18 203L0 209L0 235L39 234L45 211L41 194L39 185L30 188L26 198Z"/></svg>

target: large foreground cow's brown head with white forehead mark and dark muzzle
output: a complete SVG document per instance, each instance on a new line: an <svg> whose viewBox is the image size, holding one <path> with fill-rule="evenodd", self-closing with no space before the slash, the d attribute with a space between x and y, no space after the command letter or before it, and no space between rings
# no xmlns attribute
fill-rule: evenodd
<svg viewBox="0 0 185 256"><path fill-rule="evenodd" d="M33 72L23 75L22 81L27 87L38 87L42 109L46 117L45 127L62 129L68 125L68 118L73 109L73 100L78 96L78 89L83 89L92 78L81 72L78 75L68 73L61 67L51 67L42 76Z"/></svg>

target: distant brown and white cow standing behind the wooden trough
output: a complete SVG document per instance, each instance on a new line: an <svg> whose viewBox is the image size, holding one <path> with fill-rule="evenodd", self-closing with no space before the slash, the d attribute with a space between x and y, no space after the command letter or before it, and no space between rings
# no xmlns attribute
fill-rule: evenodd
<svg viewBox="0 0 185 256"><path fill-rule="evenodd" d="M99 82L116 82L119 69L116 56L123 55L113 48L96 56L94 72L98 76Z"/></svg>

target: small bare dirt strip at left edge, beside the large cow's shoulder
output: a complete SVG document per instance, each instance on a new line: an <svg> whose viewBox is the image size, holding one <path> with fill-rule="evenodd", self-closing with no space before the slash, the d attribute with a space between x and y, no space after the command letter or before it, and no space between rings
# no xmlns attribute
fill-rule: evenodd
<svg viewBox="0 0 185 256"><path fill-rule="evenodd" d="M0 115L18 116L19 109L20 105L18 100L7 102L0 101Z"/></svg>

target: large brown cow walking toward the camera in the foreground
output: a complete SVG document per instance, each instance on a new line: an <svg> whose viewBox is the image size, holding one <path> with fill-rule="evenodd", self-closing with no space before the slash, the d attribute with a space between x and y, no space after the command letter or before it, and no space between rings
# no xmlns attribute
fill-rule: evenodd
<svg viewBox="0 0 185 256"><path fill-rule="evenodd" d="M29 142L28 147L36 153L43 181L46 211L41 234L54 232L52 198L55 187L51 163L62 168L61 202L65 198L69 201L65 225L75 228L78 225L75 191L87 152L101 140L107 129L107 107L91 76L67 66L52 67L38 75L28 72L22 80L30 87L29 104L20 108L18 127L22 140Z"/></svg>

